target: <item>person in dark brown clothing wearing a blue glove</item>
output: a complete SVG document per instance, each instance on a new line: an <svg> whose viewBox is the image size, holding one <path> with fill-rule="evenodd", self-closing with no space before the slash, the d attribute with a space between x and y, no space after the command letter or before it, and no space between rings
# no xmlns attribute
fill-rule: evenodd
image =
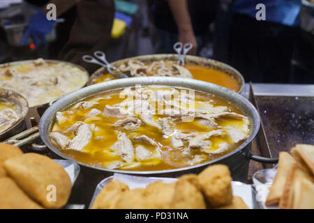
<svg viewBox="0 0 314 223"><path fill-rule="evenodd" d="M55 21L46 18L46 6L57 6L57 18L65 18L59 24L58 39L50 48L57 59L70 61L86 68L90 73L98 66L82 61L85 54L96 50L105 51L110 44L111 29L114 20L113 0L27 0L29 3L43 6L29 22L24 37L32 36L36 45L45 44L45 34L50 33ZM54 56L52 56L54 57Z"/></svg>

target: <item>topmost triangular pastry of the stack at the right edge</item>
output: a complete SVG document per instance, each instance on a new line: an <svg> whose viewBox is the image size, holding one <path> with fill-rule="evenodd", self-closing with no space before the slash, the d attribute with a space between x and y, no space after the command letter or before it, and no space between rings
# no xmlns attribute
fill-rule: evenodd
<svg viewBox="0 0 314 223"><path fill-rule="evenodd" d="M313 145L297 144L297 146L291 149L290 153L308 174L314 175Z"/></svg>

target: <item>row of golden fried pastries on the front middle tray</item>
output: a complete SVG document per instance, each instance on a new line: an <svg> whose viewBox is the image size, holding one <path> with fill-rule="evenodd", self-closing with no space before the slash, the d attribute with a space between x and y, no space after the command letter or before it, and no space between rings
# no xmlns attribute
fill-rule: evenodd
<svg viewBox="0 0 314 223"><path fill-rule="evenodd" d="M227 166L216 164L198 176L186 174L174 183L156 181L146 188L130 190L114 180L96 197L93 209L204 209L248 208L241 197L232 195L232 178Z"/></svg>

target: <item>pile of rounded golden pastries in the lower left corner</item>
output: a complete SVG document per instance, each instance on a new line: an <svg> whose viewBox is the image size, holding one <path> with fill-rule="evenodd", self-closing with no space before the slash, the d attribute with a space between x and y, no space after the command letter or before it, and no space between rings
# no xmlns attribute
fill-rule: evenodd
<svg viewBox="0 0 314 223"><path fill-rule="evenodd" d="M0 144L0 209L61 208L70 191L70 177L57 162Z"/></svg>

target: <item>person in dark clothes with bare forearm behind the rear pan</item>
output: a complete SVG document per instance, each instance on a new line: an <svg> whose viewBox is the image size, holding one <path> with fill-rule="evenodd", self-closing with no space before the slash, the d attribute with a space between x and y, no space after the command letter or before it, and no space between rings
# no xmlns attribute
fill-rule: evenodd
<svg viewBox="0 0 314 223"><path fill-rule="evenodd" d="M218 0L149 0L154 24L152 42L156 54L174 53L173 45L192 43L189 54L197 54L204 35L214 21Z"/></svg>

